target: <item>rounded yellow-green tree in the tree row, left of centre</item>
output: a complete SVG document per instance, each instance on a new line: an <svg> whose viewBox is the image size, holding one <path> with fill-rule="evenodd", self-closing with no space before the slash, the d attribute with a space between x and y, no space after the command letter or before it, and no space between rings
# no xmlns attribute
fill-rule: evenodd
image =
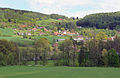
<svg viewBox="0 0 120 78"><path fill-rule="evenodd" d="M50 54L51 51L52 51L52 47L46 38L40 38L39 40L37 40L35 42L35 52L41 53L42 65L45 66L47 64L48 54ZM35 54L35 55L37 57L37 54ZM35 62L36 62L36 60L35 60Z"/></svg>

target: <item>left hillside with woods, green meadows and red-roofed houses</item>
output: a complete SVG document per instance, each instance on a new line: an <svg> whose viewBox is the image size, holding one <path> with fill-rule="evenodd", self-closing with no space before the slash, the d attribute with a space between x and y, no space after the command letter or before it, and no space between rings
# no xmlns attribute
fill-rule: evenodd
<svg viewBox="0 0 120 78"><path fill-rule="evenodd" d="M20 46L33 45L39 38L67 38L56 36L54 32L75 29L76 20L58 14L0 8L0 39L16 42Z"/></svg>

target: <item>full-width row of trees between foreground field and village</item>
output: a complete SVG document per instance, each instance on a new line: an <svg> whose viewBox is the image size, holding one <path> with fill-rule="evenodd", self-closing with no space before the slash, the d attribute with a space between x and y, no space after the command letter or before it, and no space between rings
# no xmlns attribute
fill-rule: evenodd
<svg viewBox="0 0 120 78"><path fill-rule="evenodd" d="M19 47L16 43L0 40L0 66L48 65L55 66L120 66L120 38L114 41L88 40L86 42L66 39L51 45L46 38L35 41L34 46Z"/></svg>

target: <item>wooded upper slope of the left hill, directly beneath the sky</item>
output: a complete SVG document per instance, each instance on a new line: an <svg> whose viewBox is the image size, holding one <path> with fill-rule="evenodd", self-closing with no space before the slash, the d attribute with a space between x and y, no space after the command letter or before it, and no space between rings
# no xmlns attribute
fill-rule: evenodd
<svg viewBox="0 0 120 78"><path fill-rule="evenodd" d="M58 14L42 14L38 12L25 11L25 10L14 10L10 8L0 8L0 22L11 22L11 23L32 23L34 24L39 20L46 19L67 19L67 17Z"/></svg>

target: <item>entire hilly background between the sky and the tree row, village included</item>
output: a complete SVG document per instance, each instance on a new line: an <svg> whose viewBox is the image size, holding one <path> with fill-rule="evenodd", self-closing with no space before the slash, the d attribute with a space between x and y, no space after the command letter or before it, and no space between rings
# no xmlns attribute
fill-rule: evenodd
<svg viewBox="0 0 120 78"><path fill-rule="evenodd" d="M46 15L8 8L0 8L0 14L0 39L16 42L20 46L28 46L33 45L34 41L40 38L47 38L51 44L58 39L68 39L71 36L82 36L83 40L86 38L92 39L93 32L98 36L103 32L106 40L117 34L116 30L104 29L119 27L118 17L120 13L91 14L81 20L57 14ZM78 26L83 28L78 28L76 22ZM91 29L90 27L96 27L97 29Z"/></svg>

